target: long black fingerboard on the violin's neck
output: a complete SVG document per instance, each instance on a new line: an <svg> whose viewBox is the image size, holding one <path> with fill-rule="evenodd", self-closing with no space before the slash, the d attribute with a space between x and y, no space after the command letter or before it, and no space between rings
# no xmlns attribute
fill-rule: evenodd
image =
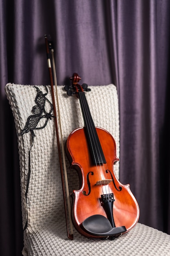
<svg viewBox="0 0 170 256"><path fill-rule="evenodd" d="M94 121L89 110L87 99L84 92L78 92L78 97L81 104L81 110L84 119L85 133L89 145L89 150L94 164L105 164L106 159L102 151L102 147L94 126Z"/></svg>

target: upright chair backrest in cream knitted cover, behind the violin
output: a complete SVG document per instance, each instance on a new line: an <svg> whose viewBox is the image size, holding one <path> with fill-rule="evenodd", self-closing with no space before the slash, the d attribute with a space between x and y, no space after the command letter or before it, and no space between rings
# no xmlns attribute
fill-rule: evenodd
<svg viewBox="0 0 170 256"><path fill-rule="evenodd" d="M111 84L90 88L91 92L85 94L94 124L111 133L116 140L117 157L119 157L119 111L116 87ZM27 230L33 232L41 228L45 222L59 218L64 211L54 118L51 112L51 90L49 86L11 83L6 85L5 90L18 134L23 226L27 219ZM74 96L67 96L63 86L58 86L57 91L65 143L72 130L83 126L83 117L79 100ZM29 170L31 175L26 203ZM119 163L114 166L114 170L119 177ZM73 173L72 170L68 170L70 192L72 189L78 189L77 178L75 179Z"/></svg>

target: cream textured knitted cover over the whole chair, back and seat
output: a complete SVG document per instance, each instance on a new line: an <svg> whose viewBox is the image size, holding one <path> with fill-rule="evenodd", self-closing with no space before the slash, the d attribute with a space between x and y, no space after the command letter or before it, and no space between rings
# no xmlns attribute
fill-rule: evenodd
<svg viewBox="0 0 170 256"><path fill-rule="evenodd" d="M37 86L46 94L43 85ZM86 93L89 108L95 126L108 130L116 140L119 157L119 112L118 96L114 85L91 87ZM68 97L63 86L58 86L59 108L61 115L63 141L75 128L83 126L79 101ZM32 85L6 85L7 98L13 111L17 133L24 128L27 118L36 106L36 87ZM50 87L46 98L52 102ZM50 104L46 101L46 112ZM44 126L47 119L42 118L37 127ZM170 255L170 236L157 229L137 223L128 233L115 240L92 240L74 230L74 240L67 238L63 194L61 186L59 158L53 118L46 126L34 130L35 137L31 148L31 132L18 136L20 155L21 195L24 231L24 256L96 256L96 255ZM77 142L78 143L78 142ZM28 175L28 153L31 148L31 177L25 199ZM121 159L120 159L121 160ZM69 163L67 162L67 167ZM119 164L115 166L119 176ZM78 177L75 171L68 169L70 192L78 189Z"/></svg>

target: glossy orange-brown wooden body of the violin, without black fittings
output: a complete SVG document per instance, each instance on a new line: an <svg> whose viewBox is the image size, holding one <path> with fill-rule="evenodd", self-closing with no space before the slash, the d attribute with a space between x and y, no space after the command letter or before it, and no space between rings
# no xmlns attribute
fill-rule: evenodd
<svg viewBox="0 0 170 256"><path fill-rule="evenodd" d="M78 172L81 185L80 189L77 191L74 190L72 194L72 222L80 234L87 237L90 236L91 238L100 238L100 236L89 235L82 228L81 224L86 218L96 214L103 215L107 218L101 202L102 189L104 193L105 191L106 193L113 191L115 199L113 203L113 216L116 227L125 226L126 230L129 231L135 226L139 218L139 207L131 193L129 184L122 185L114 173L113 165L118 161L115 140L106 130L102 128L96 128L96 130L107 162L102 168L100 166L94 166L91 161L85 128L74 130L68 137L66 144L67 156L71 162L70 168L76 169ZM100 169L100 172L98 169ZM98 180L112 179L110 173L108 175L105 172L107 169L111 171L115 184L113 182L106 185L102 184L102 189L99 189L100 185L96 185ZM88 173L90 187L87 182ZM120 187L122 187L121 191ZM89 195L87 195L88 193Z"/></svg>

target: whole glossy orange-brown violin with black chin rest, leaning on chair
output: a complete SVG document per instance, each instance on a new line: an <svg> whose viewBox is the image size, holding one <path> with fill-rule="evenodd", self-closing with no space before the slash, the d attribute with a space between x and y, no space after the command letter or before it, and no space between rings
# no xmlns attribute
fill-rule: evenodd
<svg viewBox="0 0 170 256"><path fill-rule="evenodd" d="M72 192L72 222L83 236L96 239L114 239L131 230L139 219L139 206L129 184L117 179L113 165L116 142L103 128L94 126L85 91L87 84L79 85L81 77L74 73L72 86L65 86L68 95L76 94L80 101L84 127L68 136L65 152L70 169L75 169L80 189Z"/></svg>

